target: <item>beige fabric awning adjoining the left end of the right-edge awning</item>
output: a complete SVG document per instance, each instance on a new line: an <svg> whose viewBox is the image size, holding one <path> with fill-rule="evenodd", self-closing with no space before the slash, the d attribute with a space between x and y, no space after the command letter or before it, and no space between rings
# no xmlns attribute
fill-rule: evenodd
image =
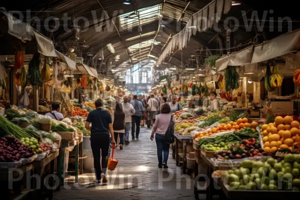
<svg viewBox="0 0 300 200"><path fill-rule="evenodd" d="M216 71L221 71L227 66L240 66L251 63L253 55L253 45L240 51L225 55L215 61Z"/></svg>

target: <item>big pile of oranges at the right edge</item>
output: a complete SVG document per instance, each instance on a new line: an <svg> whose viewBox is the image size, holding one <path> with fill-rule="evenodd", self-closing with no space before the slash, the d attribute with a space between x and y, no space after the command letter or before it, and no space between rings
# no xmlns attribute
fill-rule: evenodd
<svg viewBox="0 0 300 200"><path fill-rule="evenodd" d="M289 148L295 142L300 142L300 123L291 116L276 116L274 123L263 124L261 134L263 136L263 150L274 152L280 148Z"/></svg>

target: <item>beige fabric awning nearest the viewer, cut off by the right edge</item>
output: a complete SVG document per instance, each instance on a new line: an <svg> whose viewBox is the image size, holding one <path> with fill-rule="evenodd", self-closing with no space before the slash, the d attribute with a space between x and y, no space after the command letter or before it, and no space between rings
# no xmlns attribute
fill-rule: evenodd
<svg viewBox="0 0 300 200"><path fill-rule="evenodd" d="M295 52L300 47L300 29L287 32L254 47L251 63L261 62L286 53Z"/></svg>

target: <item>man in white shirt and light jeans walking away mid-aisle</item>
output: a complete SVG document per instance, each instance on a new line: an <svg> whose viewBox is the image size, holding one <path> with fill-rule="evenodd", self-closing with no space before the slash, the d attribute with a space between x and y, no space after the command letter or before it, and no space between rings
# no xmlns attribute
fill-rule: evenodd
<svg viewBox="0 0 300 200"><path fill-rule="evenodd" d="M135 113L134 107L128 102L128 96L123 96L123 112L125 114L125 144L129 144L129 131L131 129L132 115Z"/></svg>

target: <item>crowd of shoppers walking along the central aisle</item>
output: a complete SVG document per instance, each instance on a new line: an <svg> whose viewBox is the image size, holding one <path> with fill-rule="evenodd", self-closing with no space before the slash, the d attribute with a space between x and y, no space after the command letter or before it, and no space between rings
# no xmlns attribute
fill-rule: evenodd
<svg viewBox="0 0 300 200"><path fill-rule="evenodd" d="M123 144L130 143L129 131L131 130L132 140L138 139L140 127L144 124L148 128L153 126L150 139L153 140L155 134L158 167L168 167L169 144L164 141L164 134L170 120L175 120L171 113L182 109L182 106L176 102L176 96L172 96L171 102L167 101L162 95L155 98L153 94L147 97L139 94L133 95L132 100L131 96L123 96L122 102L116 102L111 115L103 108L101 99L95 101L96 109L89 112L85 123L85 128L91 132L90 144L96 174L94 182L107 182L106 167L110 144L115 147L118 142L119 148L123 149ZM52 110L56 110L55 105L52 105Z"/></svg>

